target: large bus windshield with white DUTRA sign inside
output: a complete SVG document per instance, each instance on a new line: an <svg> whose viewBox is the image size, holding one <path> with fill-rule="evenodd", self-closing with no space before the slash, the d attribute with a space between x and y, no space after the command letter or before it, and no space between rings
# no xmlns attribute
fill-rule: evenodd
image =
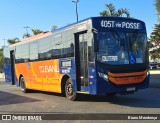
<svg viewBox="0 0 160 123"><path fill-rule="evenodd" d="M97 60L115 65L148 62L146 37L140 32L99 32Z"/></svg>

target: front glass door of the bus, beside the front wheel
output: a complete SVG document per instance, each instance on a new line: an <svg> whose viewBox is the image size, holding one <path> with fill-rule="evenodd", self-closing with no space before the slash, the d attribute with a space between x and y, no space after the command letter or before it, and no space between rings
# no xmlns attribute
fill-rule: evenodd
<svg viewBox="0 0 160 123"><path fill-rule="evenodd" d="M89 91L87 33L76 34L75 39L77 91Z"/></svg>

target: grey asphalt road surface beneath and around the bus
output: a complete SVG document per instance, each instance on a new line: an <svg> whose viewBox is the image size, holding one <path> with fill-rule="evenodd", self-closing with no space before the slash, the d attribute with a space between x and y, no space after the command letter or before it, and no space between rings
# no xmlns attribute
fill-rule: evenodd
<svg viewBox="0 0 160 123"><path fill-rule="evenodd" d="M158 70L157 70L158 71ZM117 113L160 114L160 74L151 71L150 88L132 95L115 97L81 95L79 101L70 101L60 94L32 91L22 93L20 88L0 80L0 113Z"/></svg>

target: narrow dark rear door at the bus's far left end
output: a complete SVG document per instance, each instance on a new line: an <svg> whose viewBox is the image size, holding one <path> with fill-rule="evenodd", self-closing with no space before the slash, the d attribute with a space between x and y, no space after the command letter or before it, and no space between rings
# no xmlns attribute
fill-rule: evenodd
<svg viewBox="0 0 160 123"><path fill-rule="evenodd" d="M14 50L10 51L10 58L11 58L11 78L12 78L12 85L15 85L15 52Z"/></svg>

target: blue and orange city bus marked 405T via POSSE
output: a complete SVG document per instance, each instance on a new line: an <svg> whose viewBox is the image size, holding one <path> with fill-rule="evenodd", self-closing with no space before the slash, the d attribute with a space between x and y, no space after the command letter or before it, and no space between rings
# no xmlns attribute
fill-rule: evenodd
<svg viewBox="0 0 160 123"><path fill-rule="evenodd" d="M143 21L91 17L4 48L7 83L23 92L132 94L149 86Z"/></svg>

